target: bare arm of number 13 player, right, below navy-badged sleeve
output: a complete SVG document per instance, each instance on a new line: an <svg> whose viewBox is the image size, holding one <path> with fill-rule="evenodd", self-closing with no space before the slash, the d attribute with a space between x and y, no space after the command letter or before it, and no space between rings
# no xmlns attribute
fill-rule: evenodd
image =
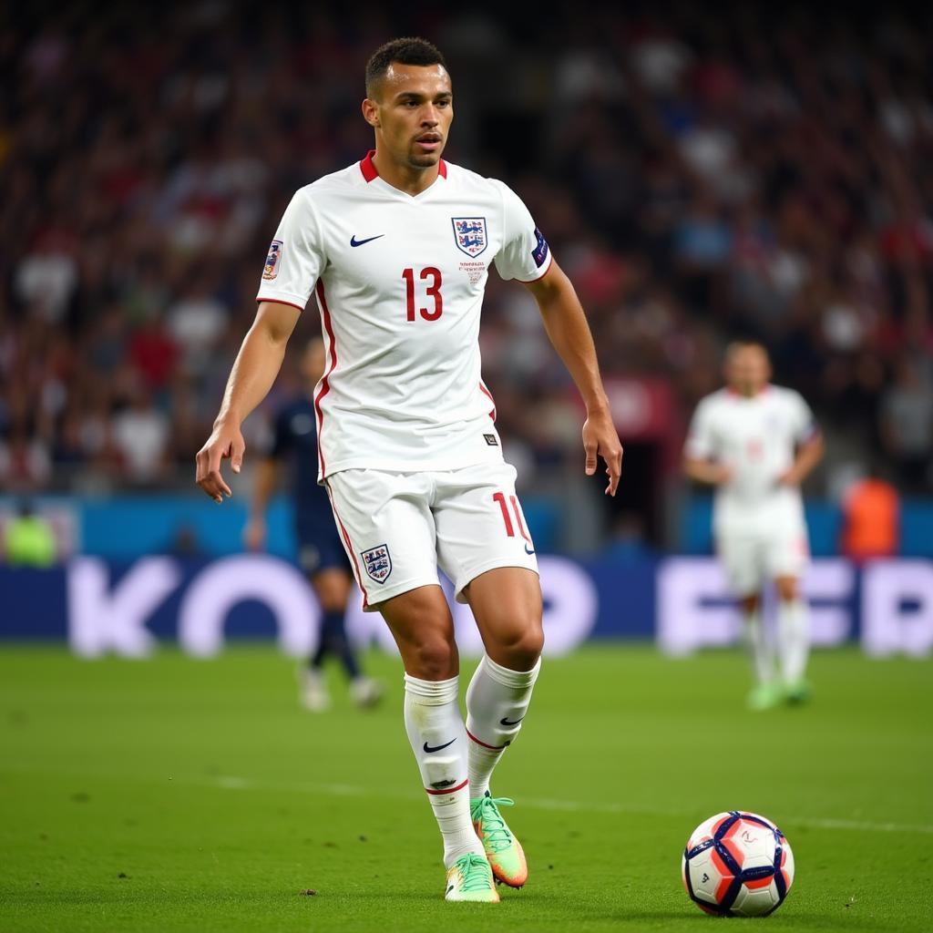
<svg viewBox="0 0 933 933"><path fill-rule="evenodd" d="M541 278L524 285L535 296L548 338L564 360L586 405L583 448L587 475L596 472L596 457L601 456L609 477L606 494L615 495L622 471L622 445L612 422L596 347L577 292L556 262L551 263Z"/></svg>

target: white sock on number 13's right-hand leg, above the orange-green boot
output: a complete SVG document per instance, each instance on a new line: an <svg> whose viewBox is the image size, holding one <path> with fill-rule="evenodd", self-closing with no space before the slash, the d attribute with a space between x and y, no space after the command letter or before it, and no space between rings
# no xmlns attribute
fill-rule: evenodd
<svg viewBox="0 0 933 933"><path fill-rule="evenodd" d="M522 728L540 669L540 658L530 671L510 671L482 656L466 689L471 797L482 797L489 790L494 767Z"/></svg>

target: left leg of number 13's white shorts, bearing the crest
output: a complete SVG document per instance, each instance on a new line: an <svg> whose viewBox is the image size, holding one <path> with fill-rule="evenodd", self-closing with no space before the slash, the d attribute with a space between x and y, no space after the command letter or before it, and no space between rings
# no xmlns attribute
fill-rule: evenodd
<svg viewBox="0 0 933 933"><path fill-rule="evenodd" d="M343 470L327 478L327 491L364 609L438 584L428 474Z"/></svg>

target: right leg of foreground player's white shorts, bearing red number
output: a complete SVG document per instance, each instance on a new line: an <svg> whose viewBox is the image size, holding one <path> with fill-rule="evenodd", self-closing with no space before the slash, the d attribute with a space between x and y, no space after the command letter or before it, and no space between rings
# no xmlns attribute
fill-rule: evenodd
<svg viewBox="0 0 933 933"><path fill-rule="evenodd" d="M433 474L438 562L458 602L466 585L495 567L537 575L535 543L515 493L515 467L482 464Z"/></svg>

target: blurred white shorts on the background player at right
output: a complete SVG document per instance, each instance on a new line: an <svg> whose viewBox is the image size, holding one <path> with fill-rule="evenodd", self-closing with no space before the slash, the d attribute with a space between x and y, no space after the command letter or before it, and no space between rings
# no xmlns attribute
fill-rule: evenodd
<svg viewBox="0 0 933 933"><path fill-rule="evenodd" d="M794 522L766 534L720 534L716 551L737 596L760 592L769 580L801 578L810 564L806 528Z"/></svg>

